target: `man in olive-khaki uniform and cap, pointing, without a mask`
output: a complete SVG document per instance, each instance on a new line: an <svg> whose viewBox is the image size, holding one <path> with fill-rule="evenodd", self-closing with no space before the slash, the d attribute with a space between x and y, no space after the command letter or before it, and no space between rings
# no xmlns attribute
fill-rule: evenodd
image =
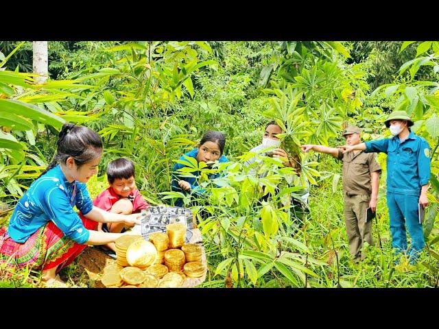
<svg viewBox="0 0 439 329"><path fill-rule="evenodd" d="M361 143L361 129L349 126L343 132L347 145ZM366 209L377 208L379 173L381 167L376 160L375 153L363 151L343 154L342 149L322 145L302 145L302 151L311 149L321 153L331 154L337 160L343 161L343 195L344 219L348 235L349 252L355 263L366 256L362 252L364 242L373 244L372 221L366 223Z"/></svg>

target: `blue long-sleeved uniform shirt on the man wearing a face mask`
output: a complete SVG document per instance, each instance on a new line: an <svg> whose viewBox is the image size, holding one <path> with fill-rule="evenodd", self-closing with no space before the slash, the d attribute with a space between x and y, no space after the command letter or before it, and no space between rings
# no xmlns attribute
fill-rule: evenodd
<svg viewBox="0 0 439 329"><path fill-rule="evenodd" d="M405 141L398 136L366 142L365 152L387 154L387 191L420 195L430 178L430 147L424 138L410 132Z"/></svg>

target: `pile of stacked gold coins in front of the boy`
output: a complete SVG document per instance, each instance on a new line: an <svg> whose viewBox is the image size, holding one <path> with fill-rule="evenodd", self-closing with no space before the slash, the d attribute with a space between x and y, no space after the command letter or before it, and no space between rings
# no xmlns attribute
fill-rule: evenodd
<svg viewBox="0 0 439 329"><path fill-rule="evenodd" d="M124 235L116 241L116 264L104 268L101 278L107 288L178 288L187 278L206 273L202 247L185 243L186 226L171 223L166 233Z"/></svg>

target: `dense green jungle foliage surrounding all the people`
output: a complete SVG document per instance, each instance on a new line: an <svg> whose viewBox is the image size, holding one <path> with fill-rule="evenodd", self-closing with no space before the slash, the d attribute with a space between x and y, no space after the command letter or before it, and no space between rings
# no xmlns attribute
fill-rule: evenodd
<svg viewBox="0 0 439 329"><path fill-rule="evenodd" d="M23 49L9 69L26 62ZM438 42L49 42L50 49L46 84L32 84L29 73L0 71L3 208L12 207L51 160L64 121L104 138L99 178L88 184L92 196L105 186L106 164L126 156L136 163L137 187L151 204L181 196L169 192L175 160L206 130L221 130L231 162L213 169L193 163L187 172L201 171L200 185L210 192L193 206L209 263L204 287L438 286ZM0 51L1 67L13 50L2 42ZM412 115L413 130L432 154L427 248L407 271L395 270L392 260L385 155L379 156L384 170L375 245L355 266L344 227L341 164L299 151L303 143L343 145L340 130L348 123L363 127L366 141L389 136L383 120L395 108ZM244 166L272 119L285 128L283 148L299 169L273 158ZM222 169L228 175L204 180ZM259 178L252 169L268 175ZM298 230L299 215L290 206L307 189L311 212ZM268 202L258 202L267 193ZM185 197L185 204L191 201ZM8 213L0 212L0 225Z"/></svg>

